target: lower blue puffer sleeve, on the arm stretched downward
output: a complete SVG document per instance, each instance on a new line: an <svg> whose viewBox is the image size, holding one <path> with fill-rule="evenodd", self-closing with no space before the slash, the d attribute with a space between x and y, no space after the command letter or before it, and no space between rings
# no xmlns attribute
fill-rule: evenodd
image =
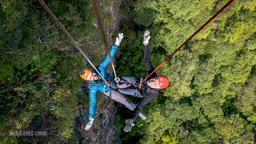
<svg viewBox="0 0 256 144"><path fill-rule="evenodd" d="M96 92L97 90L95 89L94 85L88 85L89 87L89 96L90 96L90 101L89 101L89 117L94 117L95 114L95 109L96 109Z"/></svg>

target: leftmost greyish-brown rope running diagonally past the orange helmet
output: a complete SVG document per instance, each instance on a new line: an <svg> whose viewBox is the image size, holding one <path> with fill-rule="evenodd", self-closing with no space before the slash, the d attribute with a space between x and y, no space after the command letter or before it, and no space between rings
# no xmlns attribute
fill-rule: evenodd
<svg viewBox="0 0 256 144"><path fill-rule="evenodd" d="M74 39L69 35L67 30L61 25L60 21L55 17L55 15L52 13L52 11L48 8L48 6L44 3L43 0L38 0L39 3L44 7L44 9L51 15L51 17L55 20L55 22L60 26L60 28L66 33L68 38L72 41L72 43L76 46L76 48L84 55L85 59L88 60L88 62L92 65L92 67L99 73L100 77L105 81L107 84L108 82L104 79L104 77L100 74L100 72L95 68L95 66L92 64L92 62L88 59L88 57L84 54L84 52L81 50L81 48L76 44ZM111 60L111 59L110 59Z"/></svg>

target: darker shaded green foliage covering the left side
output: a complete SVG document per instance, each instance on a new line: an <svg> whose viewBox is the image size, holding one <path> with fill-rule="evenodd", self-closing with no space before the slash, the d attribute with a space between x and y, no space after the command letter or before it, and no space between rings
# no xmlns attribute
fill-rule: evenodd
<svg viewBox="0 0 256 144"><path fill-rule="evenodd" d="M100 32L95 32L92 18L85 17L88 2L46 4L82 49L102 51L102 44L96 45ZM78 72L85 60L38 1L4 0L0 7L1 142L17 143L18 136L9 132L23 131L35 115L46 116L54 125L55 137L45 140L68 142L78 109Z"/></svg>

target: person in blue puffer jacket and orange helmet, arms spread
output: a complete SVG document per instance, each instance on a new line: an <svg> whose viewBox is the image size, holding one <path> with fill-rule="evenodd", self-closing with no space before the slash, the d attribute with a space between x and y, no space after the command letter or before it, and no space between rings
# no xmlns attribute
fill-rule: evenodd
<svg viewBox="0 0 256 144"><path fill-rule="evenodd" d="M112 45L110 49L110 55L111 58L115 54L117 47L119 46L122 38L123 33L119 33L116 37L116 43ZM89 68L83 68L80 72L80 76L88 81L88 88L89 88L89 121L88 124L85 127L85 130L89 130L92 126L93 120L94 120L94 114L96 109L96 95L97 91L104 92L107 96L109 96L111 99L116 100L117 102L120 102L124 104L127 108L131 109L132 111L136 108L137 105L135 105L131 100L127 99L122 93L120 93L117 90L112 89L114 78L111 77L109 73L105 70L108 63L110 62L108 54L105 56L105 58L100 62L98 66L95 66L97 70L100 72L100 74L104 77L104 79L108 82L108 84L105 83L105 81L100 77L99 73L96 70L92 70ZM146 116L141 112L139 116L142 119L146 119Z"/></svg>

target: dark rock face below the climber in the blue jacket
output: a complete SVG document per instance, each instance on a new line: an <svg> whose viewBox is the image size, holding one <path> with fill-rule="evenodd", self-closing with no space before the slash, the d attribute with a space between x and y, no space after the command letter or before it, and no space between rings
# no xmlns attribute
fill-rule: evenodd
<svg viewBox="0 0 256 144"><path fill-rule="evenodd" d="M88 122L88 107L79 108L79 114L75 120L76 127L74 128L76 137L81 144L102 144L102 143L120 143L120 139L115 135L116 127L116 107L112 99L104 97L104 94L98 94L98 97L103 97L104 102L98 103L95 111L95 120L92 127L85 131L84 127ZM102 98L100 98L102 99Z"/></svg>

